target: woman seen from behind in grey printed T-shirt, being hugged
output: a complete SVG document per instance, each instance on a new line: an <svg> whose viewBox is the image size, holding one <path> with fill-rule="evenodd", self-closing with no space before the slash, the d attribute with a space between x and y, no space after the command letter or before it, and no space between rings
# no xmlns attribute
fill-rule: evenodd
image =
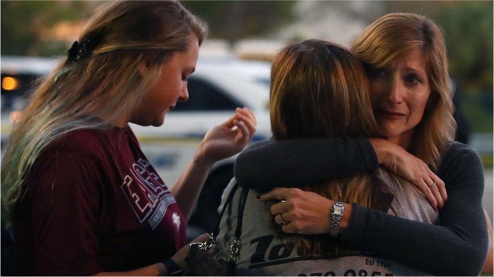
<svg viewBox="0 0 494 277"><path fill-rule="evenodd" d="M368 99L368 84L360 62L343 47L322 40L306 40L280 50L271 69L271 130L276 141L300 138L337 138L345 135L376 136L377 125ZM344 114L341 117L340 114ZM304 189L327 198L342 196L349 202L383 209L387 204L385 171L361 173L339 180L323 180ZM236 228L240 190L232 202L227 195L235 187L233 180L224 192L222 205L231 205L220 225L218 259L228 259L229 243ZM413 187L404 183L408 189ZM287 235L269 214L269 205L260 205L250 190L244 208L240 252L236 275L300 275L309 273L342 275L352 266L365 265L369 257L330 236ZM321 196L321 197L322 197ZM430 217L435 211L426 199L418 199ZM363 264L362 264L363 261ZM382 275L395 272L381 270ZM341 273L340 273L341 272ZM378 272L378 270L376 270ZM418 272L418 271L412 271ZM346 272L347 274L349 272Z"/></svg>

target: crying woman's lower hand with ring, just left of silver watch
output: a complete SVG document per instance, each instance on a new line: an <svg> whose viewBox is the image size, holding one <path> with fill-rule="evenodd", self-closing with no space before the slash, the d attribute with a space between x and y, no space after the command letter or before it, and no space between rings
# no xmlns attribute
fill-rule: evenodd
<svg viewBox="0 0 494 277"><path fill-rule="evenodd" d="M335 201L297 188L275 188L257 197L259 201L282 200L271 206L271 214L285 221L285 233L325 234L330 231L330 212Z"/></svg>

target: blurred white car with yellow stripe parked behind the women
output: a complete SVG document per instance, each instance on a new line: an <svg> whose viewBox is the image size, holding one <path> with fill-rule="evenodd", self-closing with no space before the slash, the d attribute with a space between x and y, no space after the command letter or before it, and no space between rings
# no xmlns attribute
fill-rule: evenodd
<svg viewBox="0 0 494 277"><path fill-rule="evenodd" d="M21 96L29 94L32 80L42 77L56 64L56 60L42 58L0 59L2 144L9 137L10 118L22 107ZM177 103L160 127L130 124L143 152L169 187L184 171L204 134L231 117L236 107L246 106L254 111L258 122L254 142L269 139L270 67L266 62L231 57L199 57L196 71L188 79L188 101ZM12 82L6 78L13 78L17 86L4 87L4 80ZM189 221L200 227L197 232L212 231L221 194L233 177L233 163L234 157L217 162L204 184L196 212Z"/></svg>

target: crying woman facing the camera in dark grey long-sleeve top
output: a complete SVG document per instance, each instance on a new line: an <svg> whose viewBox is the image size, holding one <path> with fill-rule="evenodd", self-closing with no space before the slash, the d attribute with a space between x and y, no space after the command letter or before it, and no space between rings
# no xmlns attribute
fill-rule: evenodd
<svg viewBox="0 0 494 277"><path fill-rule="evenodd" d="M440 29L423 16L388 14L369 25L352 50L369 77L380 138L266 142L238 157L236 180L264 191L292 187L258 197L286 200L270 209L283 232L332 233L373 253L375 258L362 266L385 268L385 263L376 263L384 258L391 261L386 263L391 269L404 265L434 275L479 274L488 246L482 164L471 148L453 141L452 90ZM414 203L400 207L393 200L383 212L294 188L376 170L378 164L409 180L439 209L434 224L399 213L403 208L415 215ZM336 203L339 200L345 203Z"/></svg>

